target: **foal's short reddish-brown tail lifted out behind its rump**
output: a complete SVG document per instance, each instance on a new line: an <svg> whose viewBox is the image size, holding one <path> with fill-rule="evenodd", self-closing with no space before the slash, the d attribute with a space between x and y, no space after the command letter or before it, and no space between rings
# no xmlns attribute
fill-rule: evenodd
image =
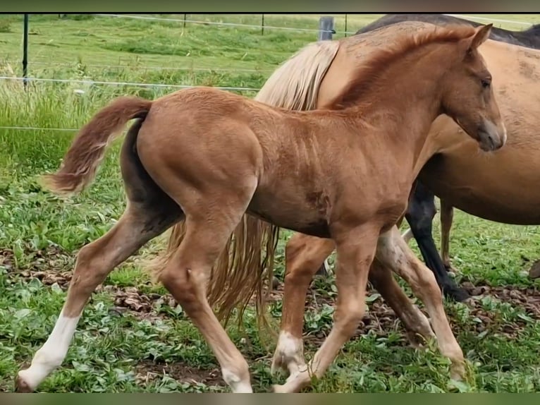
<svg viewBox="0 0 540 405"><path fill-rule="evenodd" d="M82 191L96 174L110 141L128 121L145 119L152 101L140 97L118 97L83 126L71 144L59 171L42 177L42 183L55 193Z"/></svg>

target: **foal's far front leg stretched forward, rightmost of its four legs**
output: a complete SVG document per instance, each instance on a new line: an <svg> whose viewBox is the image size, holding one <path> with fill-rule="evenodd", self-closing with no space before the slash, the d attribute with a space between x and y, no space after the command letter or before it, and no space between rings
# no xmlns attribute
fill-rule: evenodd
<svg viewBox="0 0 540 405"><path fill-rule="evenodd" d="M452 361L451 376L456 380L465 374L463 352L455 339L443 307L443 297L438 289L434 274L418 260L403 241L397 227L381 235L377 256L383 265L390 267L403 277L414 294L424 302L431 318L431 325L443 356Z"/></svg>

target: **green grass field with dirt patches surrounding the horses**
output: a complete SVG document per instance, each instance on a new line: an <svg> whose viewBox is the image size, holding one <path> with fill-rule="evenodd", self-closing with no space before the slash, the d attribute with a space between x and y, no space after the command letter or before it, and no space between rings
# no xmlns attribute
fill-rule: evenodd
<svg viewBox="0 0 540 405"><path fill-rule="evenodd" d="M183 15L162 16L182 19ZM349 16L355 31L378 18ZM540 16L496 18L540 22ZM188 19L259 24L260 16ZM317 28L317 16L266 16L265 25ZM523 25L499 24L522 29ZM343 16L336 30L345 29ZM22 16L0 16L0 75L20 76ZM127 18L56 14L30 17L29 75L130 83L259 88L278 64L317 39L317 32L238 28ZM343 34L336 35L340 37ZM80 128L112 97L156 97L173 89L87 83L0 80L0 391L47 339L63 304L76 251L104 234L124 209L116 142L94 184L68 200L45 193L35 177L59 166L75 131L5 127ZM84 92L75 92L84 90ZM254 92L245 92L252 97ZM282 232L278 277L283 273ZM438 223L435 222L438 242ZM540 392L539 282L527 278L540 258L540 229L495 224L455 214L451 239L459 281L477 300L446 303L472 375L453 390ZM412 242L413 248L417 247ZM92 296L63 367L44 392L223 392L218 366L182 309L149 282L140 260L154 241L113 272ZM408 289L407 289L408 291ZM331 327L333 282L316 279L305 315L307 356ZM393 311L374 292L357 336L345 345L314 392L447 392L448 363L436 351L407 346ZM278 325L281 306L271 308ZM280 377L269 373L273 343L262 344L247 314L244 330L229 327L249 359L257 392Z"/></svg>

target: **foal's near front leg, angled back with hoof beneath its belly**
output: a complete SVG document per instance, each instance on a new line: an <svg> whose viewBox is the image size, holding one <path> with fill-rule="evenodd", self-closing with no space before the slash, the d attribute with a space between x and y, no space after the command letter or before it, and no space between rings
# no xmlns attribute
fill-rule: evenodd
<svg viewBox="0 0 540 405"><path fill-rule="evenodd" d="M285 384L274 385L275 392L299 392L312 376L320 378L355 334L364 316L367 277L378 236L377 226L365 224L336 237L338 298L332 330L307 366L290 375Z"/></svg>

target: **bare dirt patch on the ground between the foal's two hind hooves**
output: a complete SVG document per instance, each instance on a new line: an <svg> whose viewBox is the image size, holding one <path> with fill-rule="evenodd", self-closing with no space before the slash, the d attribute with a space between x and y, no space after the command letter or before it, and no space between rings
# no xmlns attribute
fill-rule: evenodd
<svg viewBox="0 0 540 405"><path fill-rule="evenodd" d="M147 384L160 375L168 375L178 382L225 386L219 368L200 369L180 363L166 365L145 360L135 366L135 373L135 380L140 384Z"/></svg>

